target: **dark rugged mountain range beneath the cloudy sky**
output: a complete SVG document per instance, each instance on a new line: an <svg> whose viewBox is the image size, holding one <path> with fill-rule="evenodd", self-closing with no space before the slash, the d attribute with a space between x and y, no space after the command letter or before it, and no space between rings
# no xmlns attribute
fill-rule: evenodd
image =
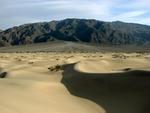
<svg viewBox="0 0 150 113"><path fill-rule="evenodd" d="M31 23L0 31L0 46L55 40L104 45L149 45L150 26L120 21L65 19Z"/></svg>

